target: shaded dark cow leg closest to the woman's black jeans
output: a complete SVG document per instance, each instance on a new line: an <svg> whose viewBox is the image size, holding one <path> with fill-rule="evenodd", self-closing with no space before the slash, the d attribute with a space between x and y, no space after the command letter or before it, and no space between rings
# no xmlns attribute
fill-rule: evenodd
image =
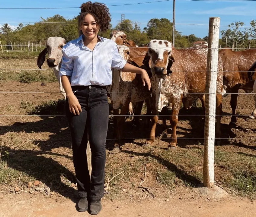
<svg viewBox="0 0 256 217"><path fill-rule="evenodd" d="M120 138L123 131L123 124L125 122L125 116L123 115L126 115L127 109L129 108L129 103L130 103L130 99L126 100L125 104L121 108L120 116L116 116L117 117L117 139L114 144L114 149L111 152L112 154L117 154L120 152L120 144L121 144Z"/></svg>

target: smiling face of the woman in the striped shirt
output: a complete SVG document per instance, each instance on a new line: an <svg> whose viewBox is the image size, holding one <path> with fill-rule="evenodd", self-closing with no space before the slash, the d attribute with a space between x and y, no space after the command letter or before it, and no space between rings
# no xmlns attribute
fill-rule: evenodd
<svg viewBox="0 0 256 217"><path fill-rule="evenodd" d="M85 38L89 40L97 37L97 34L99 32L99 26L91 14L87 14L85 16L82 26L80 26L80 29L82 30Z"/></svg>

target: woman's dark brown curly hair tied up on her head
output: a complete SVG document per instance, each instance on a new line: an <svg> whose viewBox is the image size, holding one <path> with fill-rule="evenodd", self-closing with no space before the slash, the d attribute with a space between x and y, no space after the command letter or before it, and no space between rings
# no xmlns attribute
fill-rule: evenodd
<svg viewBox="0 0 256 217"><path fill-rule="evenodd" d="M87 14L91 14L97 25L99 26L100 31L106 32L110 26L110 13L107 6L103 3L99 2L86 2L83 3L81 6L80 12L80 26L83 25L84 18Z"/></svg>

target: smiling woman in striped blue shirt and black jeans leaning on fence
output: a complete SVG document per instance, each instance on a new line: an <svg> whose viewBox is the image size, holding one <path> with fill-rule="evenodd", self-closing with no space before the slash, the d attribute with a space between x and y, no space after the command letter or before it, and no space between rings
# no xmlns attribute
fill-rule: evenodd
<svg viewBox="0 0 256 217"><path fill-rule="evenodd" d="M73 162L80 197L76 208L96 215L101 211L104 195L106 137L109 117L106 86L112 83L111 68L141 74L143 85L151 83L147 72L126 63L117 44L98 36L110 25L105 4L87 2L81 5L82 35L62 48L60 76L66 92L65 113L72 138ZM87 129L91 146L91 177L86 147ZM91 179L91 181L90 181Z"/></svg>

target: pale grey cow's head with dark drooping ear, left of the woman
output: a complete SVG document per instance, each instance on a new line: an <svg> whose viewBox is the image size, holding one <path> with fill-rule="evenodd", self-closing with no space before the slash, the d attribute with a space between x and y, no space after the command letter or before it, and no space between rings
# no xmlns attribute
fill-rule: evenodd
<svg viewBox="0 0 256 217"><path fill-rule="evenodd" d="M48 53L47 64L50 68L56 68L62 59L62 47L66 41L61 37L49 37L46 41L46 48L39 54L37 58L37 66L41 68L45 61L45 56Z"/></svg>

